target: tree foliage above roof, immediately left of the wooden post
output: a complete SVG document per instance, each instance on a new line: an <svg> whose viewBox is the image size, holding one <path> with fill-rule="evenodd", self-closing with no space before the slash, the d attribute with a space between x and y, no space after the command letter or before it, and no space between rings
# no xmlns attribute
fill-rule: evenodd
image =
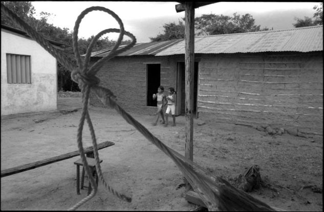
<svg viewBox="0 0 324 212"><path fill-rule="evenodd" d="M169 41L178 38L184 38L184 24L168 23L163 25L164 33L158 34L156 37L150 37L151 41Z"/></svg>

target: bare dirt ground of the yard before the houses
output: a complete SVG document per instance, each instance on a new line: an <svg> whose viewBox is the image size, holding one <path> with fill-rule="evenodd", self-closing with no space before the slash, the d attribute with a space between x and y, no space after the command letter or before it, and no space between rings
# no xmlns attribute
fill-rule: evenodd
<svg viewBox="0 0 324 212"><path fill-rule="evenodd" d="M1 121L1 169L77 150L79 98L59 98L60 112L9 117ZM184 155L182 116L176 127L152 126L155 117L129 111L169 147ZM192 210L184 199L183 176L163 152L148 142L112 109L90 107L104 179L132 203L120 201L99 183L97 195L80 210ZM199 124L199 125L198 125ZM91 145L87 125L83 146ZM270 135L251 127L194 121L194 161L230 183L245 168L260 167L264 186L249 194L270 206L293 211L322 211L322 138ZM79 157L1 178L2 210L66 210L87 196L76 194ZM86 181L88 183L88 181Z"/></svg>

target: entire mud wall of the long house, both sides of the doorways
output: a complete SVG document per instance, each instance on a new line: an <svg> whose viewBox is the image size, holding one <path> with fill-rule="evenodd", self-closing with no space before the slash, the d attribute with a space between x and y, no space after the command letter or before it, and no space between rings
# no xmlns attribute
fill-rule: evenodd
<svg viewBox="0 0 324 212"><path fill-rule="evenodd" d="M283 127L322 136L322 52L202 54L199 61L199 117L218 122ZM146 64L161 64L161 85L175 87L184 55L115 57L98 72L100 85L137 112L146 106ZM90 104L101 106L93 93Z"/></svg>

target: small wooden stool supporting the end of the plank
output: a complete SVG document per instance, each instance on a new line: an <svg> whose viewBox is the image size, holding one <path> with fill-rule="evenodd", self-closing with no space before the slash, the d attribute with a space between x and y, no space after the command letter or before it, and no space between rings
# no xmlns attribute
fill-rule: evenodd
<svg viewBox="0 0 324 212"><path fill-rule="evenodd" d="M98 185L98 175L96 171L96 160L94 158L87 158L88 165L90 167L92 176L96 178L96 184ZM101 163L102 160L99 161ZM76 165L76 194L80 194L80 166L83 166L82 159L75 161L74 164ZM84 183L84 167L82 167L82 177L81 177L81 189L83 189L83 183ZM88 176L89 178L89 176ZM89 180L89 186L88 188L88 195L91 193L91 182Z"/></svg>

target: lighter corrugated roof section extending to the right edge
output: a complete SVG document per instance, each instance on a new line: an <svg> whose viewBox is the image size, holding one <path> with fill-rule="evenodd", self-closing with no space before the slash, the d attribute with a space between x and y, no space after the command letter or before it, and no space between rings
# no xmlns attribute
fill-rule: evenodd
<svg viewBox="0 0 324 212"><path fill-rule="evenodd" d="M184 54L184 40L156 56ZM195 53L322 51L323 26L195 37Z"/></svg>

